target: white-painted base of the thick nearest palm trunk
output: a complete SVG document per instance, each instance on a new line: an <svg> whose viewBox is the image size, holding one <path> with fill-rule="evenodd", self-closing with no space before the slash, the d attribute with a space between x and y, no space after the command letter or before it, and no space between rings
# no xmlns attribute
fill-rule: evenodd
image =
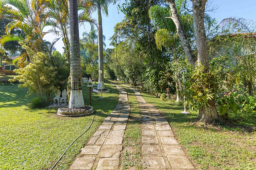
<svg viewBox="0 0 256 170"><path fill-rule="evenodd" d="M82 90L71 90L68 107L69 108L84 107L84 98L83 98Z"/></svg>

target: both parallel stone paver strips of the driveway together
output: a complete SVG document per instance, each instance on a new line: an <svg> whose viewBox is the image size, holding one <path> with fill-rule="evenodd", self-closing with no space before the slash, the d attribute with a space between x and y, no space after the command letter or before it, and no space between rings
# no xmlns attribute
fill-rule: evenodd
<svg viewBox="0 0 256 170"><path fill-rule="evenodd" d="M123 84L122 84L123 85ZM114 85L119 91L119 101L113 112L105 118L102 125L82 148L70 170L119 170L122 142L130 104L124 88ZM142 115L142 159L146 170L192 170L196 169L176 140L172 128L160 111L148 104L136 89Z"/></svg>

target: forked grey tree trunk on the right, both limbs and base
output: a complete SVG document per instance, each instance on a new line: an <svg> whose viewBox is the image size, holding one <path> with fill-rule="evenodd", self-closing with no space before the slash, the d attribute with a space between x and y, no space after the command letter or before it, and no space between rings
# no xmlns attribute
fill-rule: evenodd
<svg viewBox="0 0 256 170"><path fill-rule="evenodd" d="M186 37L184 28L182 23L179 19L179 15L175 6L175 0L167 0L169 3L172 16L170 17L176 25L178 35L181 39L183 49L185 54L188 58L188 61L191 65L195 65L195 55L192 51L192 48L189 44L189 41ZM193 5L193 24L194 24L194 32L195 32L195 39L197 44L197 51L198 51L198 59L197 63L203 64L207 70L209 71L209 60L208 60L208 50L207 50L207 42L206 42L206 35L204 29L204 10L205 4L207 0L192 0ZM201 121L205 121L207 123L212 123L214 120L219 119L218 112L216 110L216 106L214 100L208 101L209 106L206 108L202 107L199 109L199 116L198 119Z"/></svg>

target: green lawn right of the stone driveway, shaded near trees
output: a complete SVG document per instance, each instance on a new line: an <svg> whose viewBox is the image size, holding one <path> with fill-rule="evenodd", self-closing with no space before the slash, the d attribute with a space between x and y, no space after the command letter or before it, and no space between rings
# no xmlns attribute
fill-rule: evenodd
<svg viewBox="0 0 256 170"><path fill-rule="evenodd" d="M242 115L231 115L235 125L195 126L197 112L180 114L182 105L170 104L141 91L148 103L153 103L173 127L178 141L200 169L255 170L256 133L242 127L256 127L256 121ZM234 127L238 128L234 128Z"/></svg>

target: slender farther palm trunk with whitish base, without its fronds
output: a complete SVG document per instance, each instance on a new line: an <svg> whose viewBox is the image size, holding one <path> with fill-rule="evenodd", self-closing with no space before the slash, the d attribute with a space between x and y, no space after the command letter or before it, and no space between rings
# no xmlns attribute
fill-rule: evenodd
<svg viewBox="0 0 256 170"><path fill-rule="evenodd" d="M103 30L102 30L102 17L101 17L101 6L98 5L98 49L99 49L99 70L102 71L100 76L97 89L105 89L104 84L104 66L103 66Z"/></svg>

